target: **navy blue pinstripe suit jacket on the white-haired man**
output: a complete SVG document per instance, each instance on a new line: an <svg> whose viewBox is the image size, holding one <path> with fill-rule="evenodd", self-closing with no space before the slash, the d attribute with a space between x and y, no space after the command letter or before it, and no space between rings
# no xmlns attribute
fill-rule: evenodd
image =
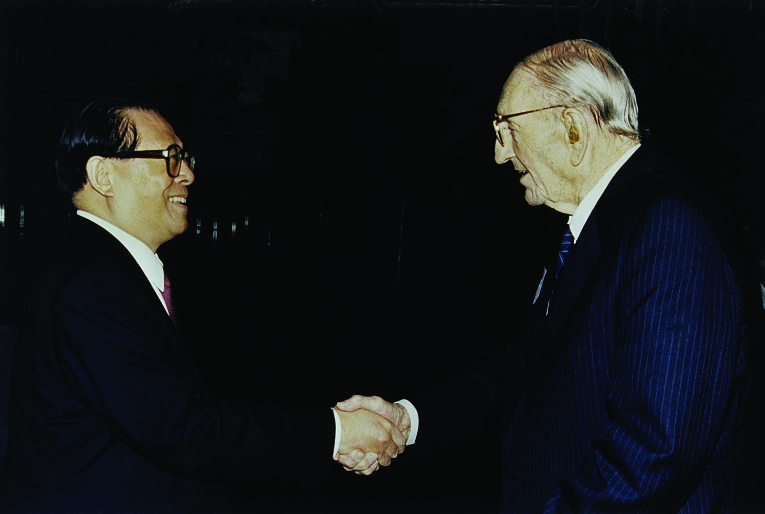
<svg viewBox="0 0 765 514"><path fill-rule="evenodd" d="M640 154L535 317L542 356L503 440L502 512L741 512L740 293L708 221Z"/></svg>

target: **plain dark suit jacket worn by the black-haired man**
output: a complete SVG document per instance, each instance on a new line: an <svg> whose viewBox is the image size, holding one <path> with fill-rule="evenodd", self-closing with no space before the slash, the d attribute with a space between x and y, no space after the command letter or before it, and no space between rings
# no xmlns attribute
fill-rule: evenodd
<svg viewBox="0 0 765 514"><path fill-rule="evenodd" d="M111 234L77 217L54 248L15 355L7 512L220 512L214 481L331 466L329 408L291 416L206 393Z"/></svg>

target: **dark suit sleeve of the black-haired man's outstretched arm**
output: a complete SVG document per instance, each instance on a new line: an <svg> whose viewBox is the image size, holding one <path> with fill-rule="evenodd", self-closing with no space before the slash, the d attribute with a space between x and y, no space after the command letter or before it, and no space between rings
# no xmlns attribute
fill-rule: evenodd
<svg viewBox="0 0 765 514"><path fill-rule="evenodd" d="M57 359L87 411L135 453L185 476L326 471L334 437L329 408L298 415L210 397L181 341L152 316L158 305L125 300L141 297L127 282L92 266L71 277L57 299Z"/></svg>

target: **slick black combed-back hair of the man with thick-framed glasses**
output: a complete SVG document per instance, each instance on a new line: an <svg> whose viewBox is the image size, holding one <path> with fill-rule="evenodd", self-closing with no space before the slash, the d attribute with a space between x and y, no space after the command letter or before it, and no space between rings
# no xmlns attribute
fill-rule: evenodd
<svg viewBox="0 0 765 514"><path fill-rule="evenodd" d="M148 103L99 97L77 104L63 127L56 157L58 184L68 196L87 182L85 166L93 156L135 150L138 133L129 110L158 112Z"/></svg>

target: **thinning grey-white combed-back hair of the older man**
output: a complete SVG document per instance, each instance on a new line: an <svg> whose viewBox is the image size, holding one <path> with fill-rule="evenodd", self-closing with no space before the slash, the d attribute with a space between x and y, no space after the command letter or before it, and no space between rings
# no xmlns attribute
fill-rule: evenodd
<svg viewBox="0 0 765 514"><path fill-rule="evenodd" d="M526 57L549 100L587 109L597 126L640 140L637 100L630 79L610 51L586 39L561 41Z"/></svg>

